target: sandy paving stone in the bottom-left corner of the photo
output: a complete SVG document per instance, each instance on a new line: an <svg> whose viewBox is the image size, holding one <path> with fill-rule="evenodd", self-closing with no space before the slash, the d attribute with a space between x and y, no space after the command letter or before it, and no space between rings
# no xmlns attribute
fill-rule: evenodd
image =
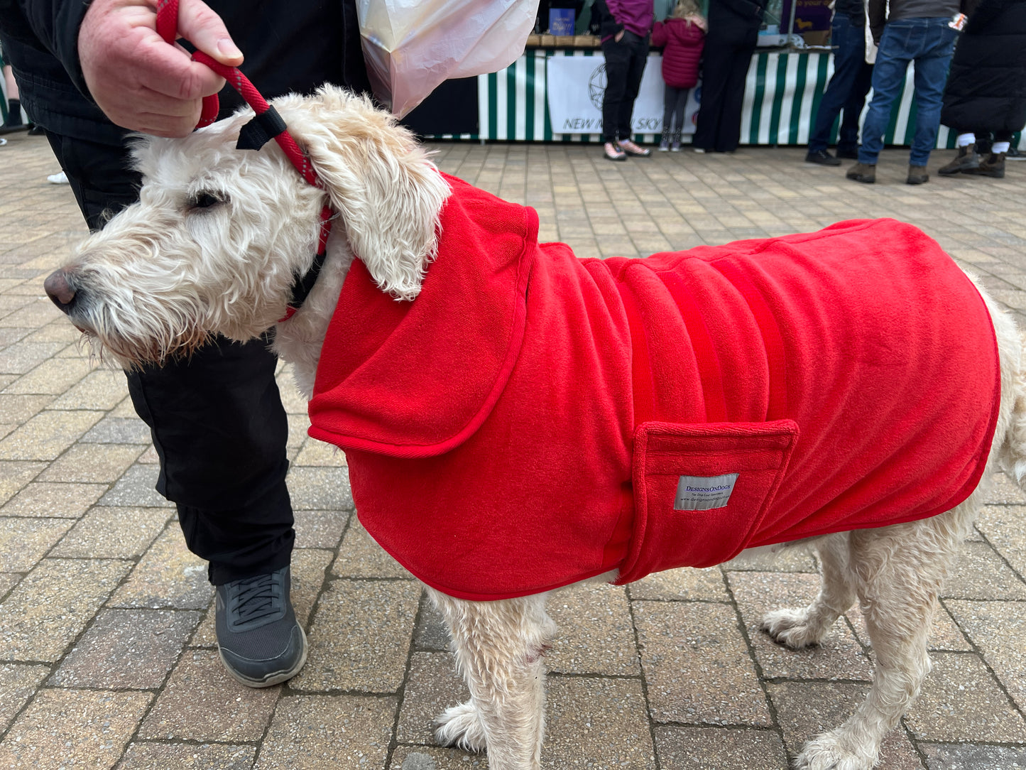
<svg viewBox="0 0 1026 770"><path fill-rule="evenodd" d="M113 767L153 696L40 690L0 741L0 767Z"/></svg>

